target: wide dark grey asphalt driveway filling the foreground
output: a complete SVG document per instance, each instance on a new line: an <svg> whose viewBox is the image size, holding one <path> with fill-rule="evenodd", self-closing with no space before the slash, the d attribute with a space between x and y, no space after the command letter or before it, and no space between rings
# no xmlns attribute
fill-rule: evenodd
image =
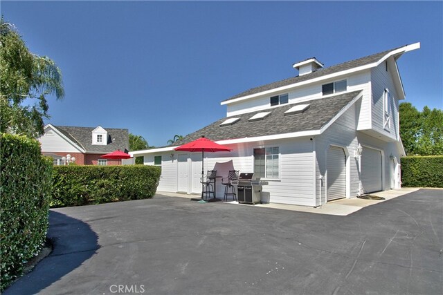
<svg viewBox="0 0 443 295"><path fill-rule="evenodd" d="M443 191L348 216L157 195L51 210L5 294L443 294Z"/></svg>

